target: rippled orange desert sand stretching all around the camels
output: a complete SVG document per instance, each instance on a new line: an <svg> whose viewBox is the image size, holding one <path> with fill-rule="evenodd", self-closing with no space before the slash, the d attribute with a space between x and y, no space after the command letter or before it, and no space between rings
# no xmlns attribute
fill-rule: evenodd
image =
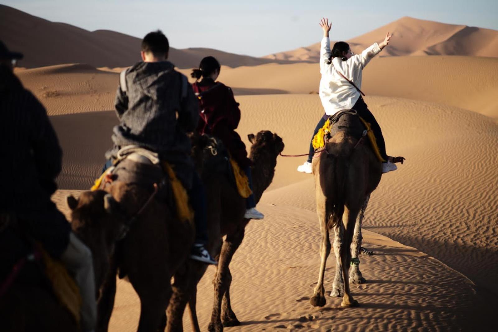
<svg viewBox="0 0 498 332"><path fill-rule="evenodd" d="M498 58L490 52L497 49L497 31L423 22L405 17L390 23L425 42L410 49L393 44L384 54L392 56L375 58L364 72L362 90L382 127L387 153L406 162L382 176L366 211L364 244L375 254L360 257L368 282L352 285L362 306L343 309L340 299L330 297L324 308L309 304L320 262L314 180L296 171L304 157L279 157L273 183L258 205L266 217L249 223L231 265L232 304L242 326L226 331L496 329L491 315L498 305ZM475 34L490 37L486 45L476 44L474 53L444 53L451 51L450 41L461 45ZM354 40L364 45L381 37ZM208 50L202 55L216 56ZM316 60L309 54L289 58ZM225 66L219 80L233 87L241 104L238 132L245 143L249 133L271 130L283 138L284 154L306 153L323 113L316 94L318 64L220 60ZM73 60L16 70L45 105L63 148L53 200L68 218L65 195L88 189L105 162L118 123L113 111L118 73L133 61ZM334 272L331 255L327 292ZM198 287L202 329L211 315L213 274L210 267ZM135 331L138 315L138 298L119 280L111 331ZM186 331L189 324L186 311Z"/></svg>

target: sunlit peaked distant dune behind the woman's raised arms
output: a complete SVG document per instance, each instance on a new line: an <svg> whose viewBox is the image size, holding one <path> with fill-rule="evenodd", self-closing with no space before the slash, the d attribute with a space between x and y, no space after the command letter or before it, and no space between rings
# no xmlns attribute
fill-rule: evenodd
<svg viewBox="0 0 498 332"><path fill-rule="evenodd" d="M445 24L408 16L349 39L347 42L355 53L359 53L374 42L382 41L387 31L393 33L393 38L389 47L380 53L381 56L470 55L498 57L497 30ZM334 38L334 26L332 26L330 36L333 45L337 41ZM318 62L320 42L295 50L266 55L264 58Z"/></svg>

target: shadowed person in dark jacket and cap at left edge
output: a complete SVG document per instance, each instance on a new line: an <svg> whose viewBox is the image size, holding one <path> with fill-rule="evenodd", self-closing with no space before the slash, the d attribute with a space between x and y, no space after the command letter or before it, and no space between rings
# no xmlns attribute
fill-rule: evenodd
<svg viewBox="0 0 498 332"><path fill-rule="evenodd" d="M71 232L50 196L57 189L62 151L45 108L13 73L22 54L0 41L0 214L60 259L75 277L82 297L81 330L93 331L97 320L92 253Z"/></svg>

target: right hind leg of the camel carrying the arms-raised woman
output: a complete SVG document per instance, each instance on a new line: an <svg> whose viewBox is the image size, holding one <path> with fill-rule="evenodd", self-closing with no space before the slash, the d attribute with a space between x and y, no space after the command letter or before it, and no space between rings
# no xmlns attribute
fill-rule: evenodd
<svg viewBox="0 0 498 332"><path fill-rule="evenodd" d="M353 299L349 287L348 270L351 264L351 241L353 240L353 233L355 228L356 217L359 213L358 210L350 210L347 206L344 208L343 225L344 225L344 242L340 248L341 251L341 264L344 279L344 297L341 307L357 307L358 301Z"/></svg>

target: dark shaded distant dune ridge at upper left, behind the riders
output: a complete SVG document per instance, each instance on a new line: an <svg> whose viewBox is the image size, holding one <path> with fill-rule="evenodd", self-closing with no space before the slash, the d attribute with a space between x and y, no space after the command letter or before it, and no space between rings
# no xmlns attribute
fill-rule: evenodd
<svg viewBox="0 0 498 332"><path fill-rule="evenodd" d="M168 31L163 32L168 35ZM51 22L1 4L0 39L10 49L24 53L20 65L26 68L63 63L88 63L95 67L114 68L140 61L140 38L115 31L88 31L66 23ZM191 68L198 66L206 55L215 56L230 67L289 63L287 60L257 58L211 48L171 47L169 59L179 68Z"/></svg>

